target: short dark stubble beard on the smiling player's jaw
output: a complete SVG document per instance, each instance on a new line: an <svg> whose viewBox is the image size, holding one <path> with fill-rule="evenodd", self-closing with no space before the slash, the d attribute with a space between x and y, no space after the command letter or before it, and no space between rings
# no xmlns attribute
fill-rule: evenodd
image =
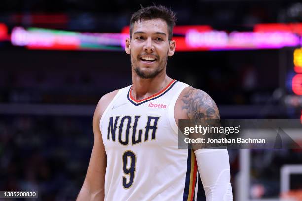
<svg viewBox="0 0 302 201"><path fill-rule="evenodd" d="M167 66L167 61L168 61L168 55L165 57L165 59L162 59L158 66L156 67L156 69L154 71L143 71L140 69L140 67L135 66L135 63L137 63L139 61L139 58L137 60L135 60L134 58L132 59L131 57L131 66L133 67L135 73L142 79L151 79L156 77L158 74L160 74L165 67Z"/></svg>

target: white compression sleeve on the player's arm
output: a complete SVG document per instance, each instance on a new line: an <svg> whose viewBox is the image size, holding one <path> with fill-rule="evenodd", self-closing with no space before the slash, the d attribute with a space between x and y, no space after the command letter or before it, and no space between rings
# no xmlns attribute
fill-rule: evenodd
<svg viewBox="0 0 302 201"><path fill-rule="evenodd" d="M198 149L195 155L206 201L232 201L227 149Z"/></svg>

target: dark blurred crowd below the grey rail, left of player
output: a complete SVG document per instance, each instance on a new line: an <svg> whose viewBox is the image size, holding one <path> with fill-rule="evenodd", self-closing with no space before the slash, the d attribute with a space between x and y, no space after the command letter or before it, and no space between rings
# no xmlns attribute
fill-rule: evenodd
<svg viewBox="0 0 302 201"><path fill-rule="evenodd" d="M0 189L37 190L39 201L72 201L93 145L92 119L0 118Z"/></svg>

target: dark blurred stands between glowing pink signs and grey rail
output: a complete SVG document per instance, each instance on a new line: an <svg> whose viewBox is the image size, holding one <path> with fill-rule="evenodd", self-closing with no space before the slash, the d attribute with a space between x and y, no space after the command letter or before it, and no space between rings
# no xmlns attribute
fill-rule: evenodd
<svg viewBox="0 0 302 201"><path fill-rule="evenodd" d="M177 52L167 73L204 90L217 104L265 104L278 89L279 80L268 79L281 76L277 58L277 50ZM132 83L125 52L6 51L1 62L0 102L5 103L94 105L105 93Z"/></svg>

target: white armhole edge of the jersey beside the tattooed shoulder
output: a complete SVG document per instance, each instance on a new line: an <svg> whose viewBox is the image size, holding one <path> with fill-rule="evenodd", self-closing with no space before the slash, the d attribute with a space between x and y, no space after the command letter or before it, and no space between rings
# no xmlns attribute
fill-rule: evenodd
<svg viewBox="0 0 302 201"><path fill-rule="evenodd" d="M168 119L170 122L170 126L172 127L172 130L174 131L176 136L178 136L178 126L176 124L175 117L174 117L174 107L175 107L175 104L176 104L176 101L177 101L179 95L182 93L182 91L186 87L189 87L189 85L183 83L183 85L176 91L175 95L172 97L170 104L169 104Z"/></svg>

